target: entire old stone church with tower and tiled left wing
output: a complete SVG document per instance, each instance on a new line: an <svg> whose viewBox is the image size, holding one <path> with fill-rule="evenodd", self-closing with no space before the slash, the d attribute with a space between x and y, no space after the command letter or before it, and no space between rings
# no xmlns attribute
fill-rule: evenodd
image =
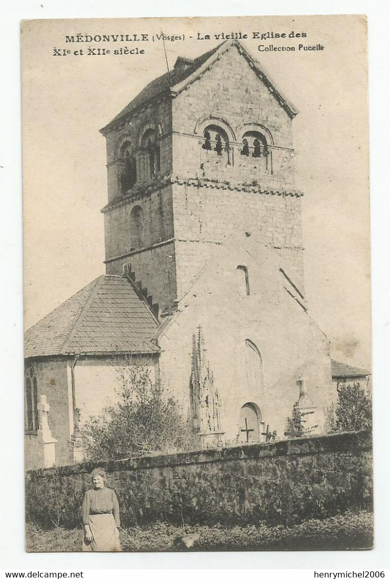
<svg viewBox="0 0 390 579"><path fill-rule="evenodd" d="M237 41L179 57L101 133L106 274L27 331L29 468L82 459L78 425L150 368L203 445L321 433L329 340L305 300L297 110ZM124 362L125 361L125 362Z"/></svg>

